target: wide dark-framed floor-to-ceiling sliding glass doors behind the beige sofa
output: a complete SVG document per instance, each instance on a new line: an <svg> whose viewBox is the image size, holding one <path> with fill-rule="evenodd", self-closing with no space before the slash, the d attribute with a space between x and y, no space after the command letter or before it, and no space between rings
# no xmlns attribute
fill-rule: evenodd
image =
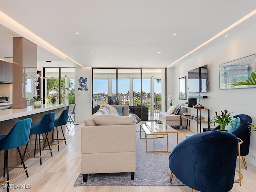
<svg viewBox="0 0 256 192"><path fill-rule="evenodd" d="M165 68L93 68L92 107L108 103L107 96L116 95L130 111L154 120L162 106L165 108L165 76Z"/></svg>

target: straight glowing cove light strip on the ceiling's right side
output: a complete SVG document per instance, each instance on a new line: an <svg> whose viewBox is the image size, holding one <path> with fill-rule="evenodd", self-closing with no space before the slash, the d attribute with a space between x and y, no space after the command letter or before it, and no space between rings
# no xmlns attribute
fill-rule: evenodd
<svg viewBox="0 0 256 192"><path fill-rule="evenodd" d="M194 48L194 50L190 51L189 53L187 53L186 55L182 56L181 58L179 58L178 60L176 60L175 62L173 62L172 64L170 64L169 66L167 66L167 68L169 68L170 66L174 65L175 63L179 62L180 60L184 59L186 56L190 55L193 52L196 52L198 49L202 48L203 46L205 46L206 44L212 42L214 39L218 38L219 36L224 35L226 32L228 32L229 30L231 30L232 28L234 28L235 26L238 26L240 23L242 23L243 21L245 21L246 19L250 18L251 16L254 16L256 14L256 9L253 10L252 12L250 12L249 14L247 14L246 16L242 17L240 20L234 22L232 25L228 26L226 29L222 30L221 32L219 32L218 34L216 34L215 36L213 36L212 38L210 38L209 40L207 40L206 42L204 42L203 44L201 44L200 46L198 46L197 48Z"/></svg>

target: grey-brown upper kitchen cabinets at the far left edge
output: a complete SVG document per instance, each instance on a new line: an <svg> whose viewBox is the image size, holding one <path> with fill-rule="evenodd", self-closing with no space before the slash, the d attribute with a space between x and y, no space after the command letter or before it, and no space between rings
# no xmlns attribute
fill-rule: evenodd
<svg viewBox="0 0 256 192"><path fill-rule="evenodd" d="M12 63L0 60L0 82L12 83Z"/></svg>

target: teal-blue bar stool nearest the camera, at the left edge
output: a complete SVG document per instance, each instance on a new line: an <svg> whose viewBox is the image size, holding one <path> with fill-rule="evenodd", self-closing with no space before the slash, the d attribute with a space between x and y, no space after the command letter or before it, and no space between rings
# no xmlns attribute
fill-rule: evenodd
<svg viewBox="0 0 256 192"><path fill-rule="evenodd" d="M31 118L26 118L24 120L19 120L14 124L12 127L12 130L7 135L0 135L0 150L4 150L4 168L1 168L0 170L4 169L4 175L5 177L5 171L6 171L6 181L0 181L0 183L7 183L7 192L9 192L9 182L14 180L16 177L18 177L23 172L26 172L26 175L28 177L27 167L24 164L24 160L22 158L22 155L20 153L20 146L26 144L29 140L29 133L31 128ZM17 148L18 153L20 155L21 162L23 164L23 167L9 167L8 165L8 150ZM9 168L24 168L22 172L14 176L14 178L9 179Z"/></svg>

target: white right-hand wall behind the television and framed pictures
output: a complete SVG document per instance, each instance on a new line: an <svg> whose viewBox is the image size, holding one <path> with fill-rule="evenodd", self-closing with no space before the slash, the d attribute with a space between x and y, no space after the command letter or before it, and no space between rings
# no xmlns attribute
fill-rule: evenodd
<svg viewBox="0 0 256 192"><path fill-rule="evenodd" d="M256 53L256 25L244 30L236 36L229 37L226 41L217 46L195 56L194 58L168 69L167 94L172 93L175 102L178 100L178 78L188 76L188 70L199 66L208 65L208 98L201 99L201 104L210 109L210 119L215 116L215 111L228 110L237 114L247 114L252 117L252 122L256 123L256 88L244 89L219 89L219 65ZM173 70L173 72L172 72ZM174 83L174 90L170 90ZM190 94L191 95L191 94ZM214 127L213 124L211 127ZM256 165L256 132L252 132L250 139L250 152L246 160Z"/></svg>

